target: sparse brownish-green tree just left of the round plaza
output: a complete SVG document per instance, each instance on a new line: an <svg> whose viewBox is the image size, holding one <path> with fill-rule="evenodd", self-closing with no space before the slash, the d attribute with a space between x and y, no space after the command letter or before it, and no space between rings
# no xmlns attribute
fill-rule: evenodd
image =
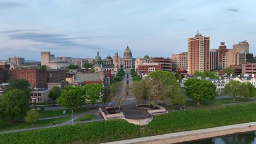
<svg viewBox="0 0 256 144"><path fill-rule="evenodd" d="M121 82L113 82L109 86L110 95L112 95L112 99L117 102L119 109L121 109L121 105L124 104L127 95L122 92L121 89L122 83Z"/></svg>

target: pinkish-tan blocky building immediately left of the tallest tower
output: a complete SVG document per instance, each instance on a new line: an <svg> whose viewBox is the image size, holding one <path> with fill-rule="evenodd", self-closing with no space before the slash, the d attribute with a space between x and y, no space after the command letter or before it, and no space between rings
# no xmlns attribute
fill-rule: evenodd
<svg viewBox="0 0 256 144"><path fill-rule="evenodd" d="M188 70L188 52L172 55L172 70Z"/></svg>

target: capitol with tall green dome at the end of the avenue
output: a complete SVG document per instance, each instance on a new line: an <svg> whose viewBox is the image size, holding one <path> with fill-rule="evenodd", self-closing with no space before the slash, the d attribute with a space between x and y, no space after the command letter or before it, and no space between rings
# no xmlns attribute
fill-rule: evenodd
<svg viewBox="0 0 256 144"><path fill-rule="evenodd" d="M122 60L123 68L134 68L133 66L133 59L132 59L132 52L129 49L129 46L126 47L124 51L124 57Z"/></svg>

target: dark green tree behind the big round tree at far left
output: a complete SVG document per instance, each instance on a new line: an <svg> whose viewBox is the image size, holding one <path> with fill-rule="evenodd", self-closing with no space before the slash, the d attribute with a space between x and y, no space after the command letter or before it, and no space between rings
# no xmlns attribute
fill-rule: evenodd
<svg viewBox="0 0 256 144"><path fill-rule="evenodd" d="M31 92L31 85L30 82L28 82L25 79L11 79L8 81L9 87L6 89L5 92L8 92L9 90L13 89L21 89L24 91L28 97L30 97L30 92Z"/></svg>

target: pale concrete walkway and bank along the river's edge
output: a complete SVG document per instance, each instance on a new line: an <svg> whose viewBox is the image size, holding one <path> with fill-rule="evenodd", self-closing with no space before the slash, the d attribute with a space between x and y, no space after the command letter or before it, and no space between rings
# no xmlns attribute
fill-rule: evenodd
<svg viewBox="0 0 256 144"><path fill-rule="evenodd" d="M251 127L248 127L248 125L251 125ZM181 142L188 142L188 141L194 141L194 140L208 139L208 138L218 137L218 136L247 133L251 131L256 131L256 122L226 125L223 127L200 129L200 130L183 131L183 132L172 133L172 134L141 137L141 138L131 139L131 140L107 142L106 144L181 143Z"/></svg>

